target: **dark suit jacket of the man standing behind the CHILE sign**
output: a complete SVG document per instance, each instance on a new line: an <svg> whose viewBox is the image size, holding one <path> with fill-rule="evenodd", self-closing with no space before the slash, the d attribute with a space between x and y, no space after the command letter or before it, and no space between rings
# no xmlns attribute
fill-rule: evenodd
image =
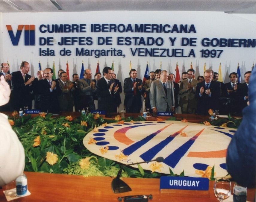
<svg viewBox="0 0 256 202"><path fill-rule="evenodd" d="M110 85L113 83L113 80L110 80ZM111 93L109 92L109 86L107 81L102 77L97 81L96 84L96 94L98 97L98 110L104 110L107 113L116 112L116 105L114 104L114 88L113 85ZM116 92L117 93L117 92Z"/></svg>

